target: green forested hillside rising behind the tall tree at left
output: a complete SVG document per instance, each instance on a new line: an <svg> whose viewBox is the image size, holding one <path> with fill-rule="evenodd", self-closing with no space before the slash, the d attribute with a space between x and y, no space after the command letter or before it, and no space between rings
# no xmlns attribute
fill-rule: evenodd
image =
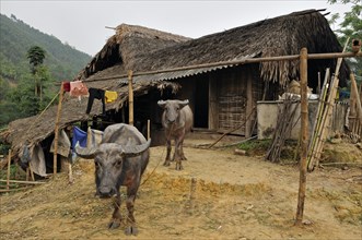
<svg viewBox="0 0 362 240"><path fill-rule="evenodd" d="M30 72L26 53L32 46L46 51L44 64L55 81L72 80L91 60L91 56L31 27L14 15L1 14L0 33L0 79L13 83Z"/></svg>

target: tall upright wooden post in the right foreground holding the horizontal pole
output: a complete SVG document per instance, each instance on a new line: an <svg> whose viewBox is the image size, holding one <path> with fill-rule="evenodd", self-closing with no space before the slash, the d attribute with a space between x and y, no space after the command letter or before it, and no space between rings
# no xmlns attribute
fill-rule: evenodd
<svg viewBox="0 0 362 240"><path fill-rule="evenodd" d="M306 188L306 158L308 147L308 101L307 101L307 49L302 48L300 57L301 77L301 160L300 160L300 188L297 193L297 208L295 225L302 225L304 199Z"/></svg>

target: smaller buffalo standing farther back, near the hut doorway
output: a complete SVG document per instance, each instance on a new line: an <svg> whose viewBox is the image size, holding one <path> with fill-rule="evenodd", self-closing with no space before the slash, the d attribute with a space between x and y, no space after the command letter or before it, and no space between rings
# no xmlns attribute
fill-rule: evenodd
<svg viewBox="0 0 362 240"><path fill-rule="evenodd" d="M182 170L182 160L186 160L184 154L185 134L192 128L192 111L188 106L188 100L159 100L159 106L162 107L162 125L165 129L167 142L167 155L164 166L170 166L171 160L176 161L176 170ZM171 159L171 141L175 140L175 153Z"/></svg>

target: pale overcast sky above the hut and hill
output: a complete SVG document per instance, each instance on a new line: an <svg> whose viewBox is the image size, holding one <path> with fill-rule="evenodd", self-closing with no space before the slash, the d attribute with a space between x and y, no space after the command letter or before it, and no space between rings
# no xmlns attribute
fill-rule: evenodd
<svg viewBox="0 0 362 240"><path fill-rule="evenodd" d="M34 28L91 56L114 35L114 31L106 26L116 27L121 23L197 38L294 11L327 9L326 12L343 15L351 9L349 4L330 5L327 0L0 0L0 4L1 14L9 17L14 14Z"/></svg>

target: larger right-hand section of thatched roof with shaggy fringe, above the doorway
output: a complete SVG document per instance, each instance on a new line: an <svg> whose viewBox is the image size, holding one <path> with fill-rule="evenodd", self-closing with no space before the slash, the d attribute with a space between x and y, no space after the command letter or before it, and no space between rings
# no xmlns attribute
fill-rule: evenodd
<svg viewBox="0 0 362 240"><path fill-rule="evenodd" d="M153 51L132 55L122 68L135 72L174 69L245 58L299 55L306 47L310 53L341 52L336 35L325 16L317 10L294 12L275 19L262 20L245 26L211 34L198 39L164 46ZM124 58L126 59L126 58ZM324 72L335 68L336 60L318 60L316 68ZM125 74L108 69L102 77ZM348 67L340 70L340 85L346 85ZM260 75L265 81L284 86L290 80L299 79L299 61L272 61L260 63ZM177 74L175 74L176 79ZM97 79L93 75L91 79ZM159 79L162 80L162 79Z"/></svg>

